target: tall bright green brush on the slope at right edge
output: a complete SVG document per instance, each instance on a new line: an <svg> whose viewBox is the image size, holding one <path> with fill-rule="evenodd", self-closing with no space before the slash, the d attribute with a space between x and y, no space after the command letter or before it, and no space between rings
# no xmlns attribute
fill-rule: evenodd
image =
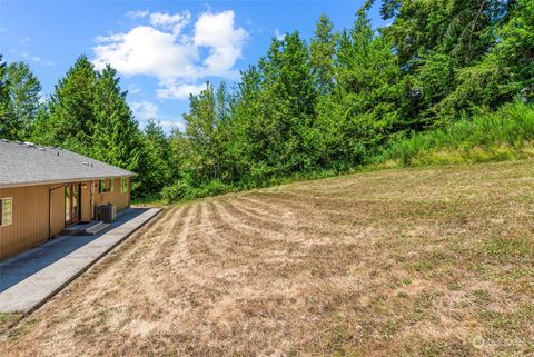
<svg viewBox="0 0 534 357"><path fill-rule="evenodd" d="M375 162L402 166L503 160L523 157L534 140L534 106L516 101L441 129L394 141ZM531 143L531 145L530 145Z"/></svg>

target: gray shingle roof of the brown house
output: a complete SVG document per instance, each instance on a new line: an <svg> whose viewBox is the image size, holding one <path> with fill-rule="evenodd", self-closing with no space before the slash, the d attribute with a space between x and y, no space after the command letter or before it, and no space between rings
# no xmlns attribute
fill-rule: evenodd
<svg viewBox="0 0 534 357"><path fill-rule="evenodd" d="M0 140L0 188L131 176L68 150Z"/></svg>

